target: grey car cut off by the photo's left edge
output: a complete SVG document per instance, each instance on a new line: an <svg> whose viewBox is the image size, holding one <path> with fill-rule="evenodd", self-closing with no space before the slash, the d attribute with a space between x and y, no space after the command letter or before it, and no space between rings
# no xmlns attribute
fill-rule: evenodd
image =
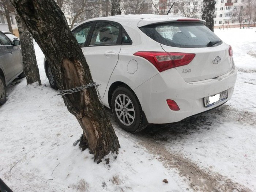
<svg viewBox="0 0 256 192"><path fill-rule="evenodd" d="M0 31L0 105L6 101L6 86L23 73L20 41L11 41Z"/></svg>

